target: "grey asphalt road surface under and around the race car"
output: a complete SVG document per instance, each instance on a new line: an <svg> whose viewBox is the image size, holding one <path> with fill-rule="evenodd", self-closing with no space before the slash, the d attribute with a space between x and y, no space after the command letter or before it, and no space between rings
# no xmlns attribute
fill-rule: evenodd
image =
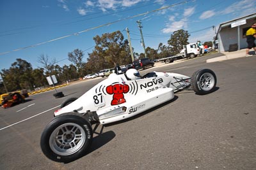
<svg viewBox="0 0 256 170"><path fill-rule="evenodd" d="M62 164L47 159L40 136L64 99L79 97L98 78L36 94L0 110L0 169L256 169L256 57L206 63L220 55L164 64L141 71L191 76L212 69L217 90L198 96L191 90L129 120L99 126L90 153Z"/></svg>

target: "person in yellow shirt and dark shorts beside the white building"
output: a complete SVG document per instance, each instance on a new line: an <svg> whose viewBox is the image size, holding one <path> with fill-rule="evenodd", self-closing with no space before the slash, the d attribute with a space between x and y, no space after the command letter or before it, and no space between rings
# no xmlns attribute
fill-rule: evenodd
<svg viewBox="0 0 256 170"><path fill-rule="evenodd" d="M252 48L255 50L255 54L256 54L255 38L256 38L256 23L252 24L252 27L250 27L250 29L246 31L246 43L248 44L248 46L245 51L246 52L245 57L252 56L249 54L249 51Z"/></svg>

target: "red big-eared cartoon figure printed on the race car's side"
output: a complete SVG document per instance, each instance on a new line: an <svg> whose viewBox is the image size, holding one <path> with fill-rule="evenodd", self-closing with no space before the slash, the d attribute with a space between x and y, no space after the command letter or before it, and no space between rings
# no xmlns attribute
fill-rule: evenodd
<svg viewBox="0 0 256 170"><path fill-rule="evenodd" d="M106 89L108 94L114 94L113 100L111 101L111 105L125 103L124 93L129 92L129 85L109 85Z"/></svg>

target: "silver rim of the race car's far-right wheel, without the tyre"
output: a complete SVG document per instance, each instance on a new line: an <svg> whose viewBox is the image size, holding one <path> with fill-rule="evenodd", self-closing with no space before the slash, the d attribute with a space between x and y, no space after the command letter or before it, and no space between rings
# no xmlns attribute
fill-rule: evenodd
<svg viewBox="0 0 256 170"><path fill-rule="evenodd" d="M211 90L214 86L214 83L214 76L211 73L204 73L202 76L200 76L199 85L202 90Z"/></svg>

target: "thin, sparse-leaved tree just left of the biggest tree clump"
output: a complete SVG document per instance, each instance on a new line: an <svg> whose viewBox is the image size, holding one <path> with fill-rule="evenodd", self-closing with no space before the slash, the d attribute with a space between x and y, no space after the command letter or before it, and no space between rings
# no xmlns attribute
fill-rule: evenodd
<svg viewBox="0 0 256 170"><path fill-rule="evenodd" d="M71 62L73 62L76 67L77 67L77 71L79 73L79 76L83 77L83 56L84 53L82 50L79 50L78 48L76 50L74 50L71 53L68 53L68 60L70 60Z"/></svg>

